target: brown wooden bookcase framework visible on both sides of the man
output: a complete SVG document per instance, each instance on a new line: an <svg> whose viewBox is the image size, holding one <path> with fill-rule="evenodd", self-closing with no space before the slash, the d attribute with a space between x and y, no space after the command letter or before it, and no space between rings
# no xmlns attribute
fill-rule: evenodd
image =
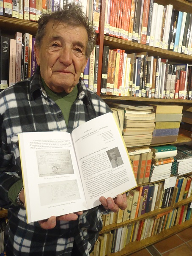
<svg viewBox="0 0 192 256"><path fill-rule="evenodd" d="M167 5L171 4L173 5L173 8L176 8L179 11L187 11L192 13L192 4L188 3L185 0L154 0L155 3ZM145 44L139 44L137 42L131 42L126 41L123 39L118 39L111 36L104 35L104 19L105 19L105 6L106 6L106 0L101 0L101 12L100 12L100 25L99 25L99 34L97 39L97 44L99 44L99 69L98 69L98 87L97 87L97 94L100 95L101 90L101 74L102 74L102 56L103 56L103 46L109 46L110 49L115 48L121 48L125 50L127 53L133 53L133 52L144 52L147 51L148 55L154 56L159 55L161 58L167 58L170 61L178 62L178 63L189 63L192 64L192 56L181 54L177 52L173 52L170 50L162 50L156 47L151 47ZM19 31L22 33L30 33L35 36L36 30L37 30L37 23L36 22L30 22L26 20L20 20L10 17L4 17L0 16L0 30L2 34L8 34L10 37L14 38L14 34ZM151 99L151 98L140 98L140 97L131 97L131 96L109 96L109 95L102 95L102 99L104 100L115 100L118 102L123 101L127 104L129 102L140 102L140 103L161 103L161 104L169 104L169 103L175 103L177 105L192 105L192 101L190 100L182 100L182 99ZM187 136L180 136L178 135L178 140L176 144L180 143L191 143L192 139ZM173 144L173 143L172 143ZM146 184L146 183L145 183ZM142 185L142 184L140 184ZM174 206L169 206L169 209L173 209L174 207L181 206L182 204L187 204L192 201L192 197L184 199L180 201L179 203L176 203ZM136 222L138 220L146 219L148 217L156 216L159 213L163 213L167 211L166 209L158 209L154 210L152 212L148 212L140 217L137 217L133 220L128 220L126 222L121 222L118 224L111 224L109 226L104 226L101 234L106 233L107 231L111 231L115 228L125 226L129 223ZM7 210L0 210L0 218L7 216ZM126 256L129 255L137 250L140 250L144 248L146 245L151 245L155 242L158 242L165 237L169 237L173 234L178 233L181 230L184 230L185 228L192 226L192 220L188 220L180 225L173 226L172 228L169 228L165 231L162 231L160 234L155 235L153 237L149 237L146 239L143 239L142 241L135 241L130 242L129 245L126 246L126 248L123 248L121 251L117 253L111 253L111 256Z"/></svg>

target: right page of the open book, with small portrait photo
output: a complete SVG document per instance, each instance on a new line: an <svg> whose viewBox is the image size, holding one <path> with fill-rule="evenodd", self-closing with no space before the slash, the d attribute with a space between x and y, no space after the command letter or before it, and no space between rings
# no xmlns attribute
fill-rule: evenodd
<svg viewBox="0 0 192 256"><path fill-rule="evenodd" d="M100 196L114 198L137 186L125 143L112 113L77 127L72 138L89 208L101 204Z"/></svg>

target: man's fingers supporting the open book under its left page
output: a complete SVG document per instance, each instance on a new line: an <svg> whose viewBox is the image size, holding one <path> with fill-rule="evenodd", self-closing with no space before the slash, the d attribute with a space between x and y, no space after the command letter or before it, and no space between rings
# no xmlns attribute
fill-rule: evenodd
<svg viewBox="0 0 192 256"><path fill-rule="evenodd" d="M81 212L69 213L66 215L58 216L58 217L52 216L47 220L40 220L38 221L38 223L43 229L51 229L51 228L55 228L57 220L67 220L67 221L77 220L78 215L82 215L82 213L83 212L81 211Z"/></svg>

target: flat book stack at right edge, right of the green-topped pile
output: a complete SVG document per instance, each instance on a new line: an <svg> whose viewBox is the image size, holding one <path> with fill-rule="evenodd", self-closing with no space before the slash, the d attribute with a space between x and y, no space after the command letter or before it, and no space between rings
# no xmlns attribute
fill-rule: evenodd
<svg viewBox="0 0 192 256"><path fill-rule="evenodd" d="M173 175L184 175L191 172L192 148L188 145L177 147L177 155L172 163L171 173Z"/></svg>

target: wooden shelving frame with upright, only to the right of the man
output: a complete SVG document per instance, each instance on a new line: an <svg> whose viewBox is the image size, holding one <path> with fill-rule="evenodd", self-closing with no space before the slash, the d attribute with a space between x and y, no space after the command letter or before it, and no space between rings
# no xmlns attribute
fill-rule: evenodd
<svg viewBox="0 0 192 256"><path fill-rule="evenodd" d="M177 9L178 11L186 11L192 13L192 4L188 3L184 0L154 0L154 2L161 4L163 6L167 4L173 5L173 8ZM192 56L173 52L170 50L162 50L156 47L151 47L145 44L139 44L136 42L126 41L123 39L118 39L112 36L104 35L104 15L105 15L105 5L106 0L102 0L101 4L101 14L100 14L100 32L98 37L98 44L100 45L100 52L99 52L99 70L98 70L98 88L97 88L97 94L100 95L101 88L99 85L101 84L101 66L102 62L102 54L103 54L103 46L107 45L110 47L110 49L122 49L125 50L126 53L133 53L133 52L148 52L148 56L155 56L159 55L160 58L167 58L170 61L177 62L177 63L189 63L192 64ZM136 102L136 103L148 103L148 104L176 104L176 105L192 105L192 101L190 100L180 100L180 99L150 99L150 98L141 98L141 97L132 97L132 96L109 96L109 95L101 95L101 98L104 100L115 100L115 102L119 102L122 104L129 104L130 102ZM192 138L189 138L184 135L178 135L178 139L175 143L171 144L183 144L183 143L189 143L192 144ZM168 144L168 143L162 143ZM145 146L146 147L146 146ZM146 183L145 183L146 184ZM144 184L140 184L142 186ZM174 204L173 206L169 206L165 209L158 209L154 210L149 213L145 213L144 215L141 215L140 217L135 218L134 220L128 220L122 223L118 224L111 224L104 226L101 234L112 231L115 228L119 228L125 225L128 225L129 223L137 222L138 220L143 220L148 217L154 217L157 214L164 213L168 209L173 209L178 206L187 204L192 201L192 197L187 198L185 200L180 201L179 203ZM176 234L185 228L188 228L189 226L192 226L192 220L188 220L184 223L181 223L180 225L173 226L167 230L161 231L159 234L154 235L153 237L148 237L146 239L143 239L141 241L135 241L135 242L129 242L128 245L126 245L125 248L123 248L121 251L116 253L111 253L111 256L126 256L131 253L134 253L142 248L145 248L148 245L154 244L155 242L158 242L162 239L165 239L165 237L170 237L173 234Z"/></svg>

